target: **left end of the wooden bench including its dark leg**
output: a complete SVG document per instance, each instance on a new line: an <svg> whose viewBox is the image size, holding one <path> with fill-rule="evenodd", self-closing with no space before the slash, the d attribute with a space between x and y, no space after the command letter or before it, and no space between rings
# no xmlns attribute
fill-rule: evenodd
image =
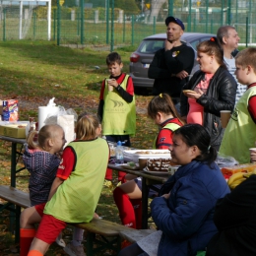
<svg viewBox="0 0 256 256"><path fill-rule="evenodd" d="M8 202L0 206L0 212L7 209L15 213L15 242L19 242L21 208L31 207L30 195L17 188L0 185L0 198ZM11 227L12 219L10 220Z"/></svg>

